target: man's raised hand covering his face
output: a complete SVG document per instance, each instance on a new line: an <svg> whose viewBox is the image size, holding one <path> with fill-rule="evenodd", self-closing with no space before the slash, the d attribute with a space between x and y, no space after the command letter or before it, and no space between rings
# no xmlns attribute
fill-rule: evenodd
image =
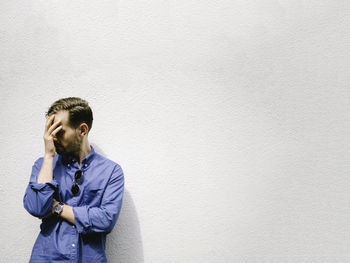
<svg viewBox="0 0 350 263"><path fill-rule="evenodd" d="M47 118L44 132L45 155L51 157L54 157L56 153L56 147L53 143L56 139L56 133L62 129L61 121L54 123L54 120L54 114Z"/></svg>

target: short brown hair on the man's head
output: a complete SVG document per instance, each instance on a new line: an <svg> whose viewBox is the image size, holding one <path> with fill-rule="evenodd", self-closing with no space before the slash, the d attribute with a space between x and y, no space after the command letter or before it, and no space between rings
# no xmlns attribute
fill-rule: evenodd
<svg viewBox="0 0 350 263"><path fill-rule="evenodd" d="M59 99L51 104L45 116L51 116L61 110L68 111L68 121L71 127L77 128L81 123L86 123L89 131L91 130L93 116L92 110L86 100L78 97Z"/></svg>

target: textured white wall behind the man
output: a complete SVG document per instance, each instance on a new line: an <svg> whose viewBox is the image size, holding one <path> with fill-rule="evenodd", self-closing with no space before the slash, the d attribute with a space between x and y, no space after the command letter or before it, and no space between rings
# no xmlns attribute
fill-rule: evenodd
<svg viewBox="0 0 350 263"><path fill-rule="evenodd" d="M0 262L44 112L80 96L125 172L109 262L350 261L349 2L0 2Z"/></svg>

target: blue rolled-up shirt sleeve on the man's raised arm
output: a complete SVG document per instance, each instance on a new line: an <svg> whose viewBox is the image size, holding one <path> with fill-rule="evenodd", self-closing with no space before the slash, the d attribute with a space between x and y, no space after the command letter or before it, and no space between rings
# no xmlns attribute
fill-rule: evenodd
<svg viewBox="0 0 350 263"><path fill-rule="evenodd" d="M33 216L42 218L52 209L52 199L58 183L53 179L50 182L37 183L38 175L43 163L43 158L39 158L32 166L32 173L29 184L23 197L24 208Z"/></svg>

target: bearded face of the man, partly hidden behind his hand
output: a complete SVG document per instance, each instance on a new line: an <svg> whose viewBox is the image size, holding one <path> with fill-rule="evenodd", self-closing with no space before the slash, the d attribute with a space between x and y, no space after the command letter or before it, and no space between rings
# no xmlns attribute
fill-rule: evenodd
<svg viewBox="0 0 350 263"><path fill-rule="evenodd" d="M54 115L54 122L61 121L62 123L62 129L56 134L56 138L54 138L56 152L61 155L78 156L82 144L78 133L79 129L74 129L68 125L68 111L59 111Z"/></svg>

